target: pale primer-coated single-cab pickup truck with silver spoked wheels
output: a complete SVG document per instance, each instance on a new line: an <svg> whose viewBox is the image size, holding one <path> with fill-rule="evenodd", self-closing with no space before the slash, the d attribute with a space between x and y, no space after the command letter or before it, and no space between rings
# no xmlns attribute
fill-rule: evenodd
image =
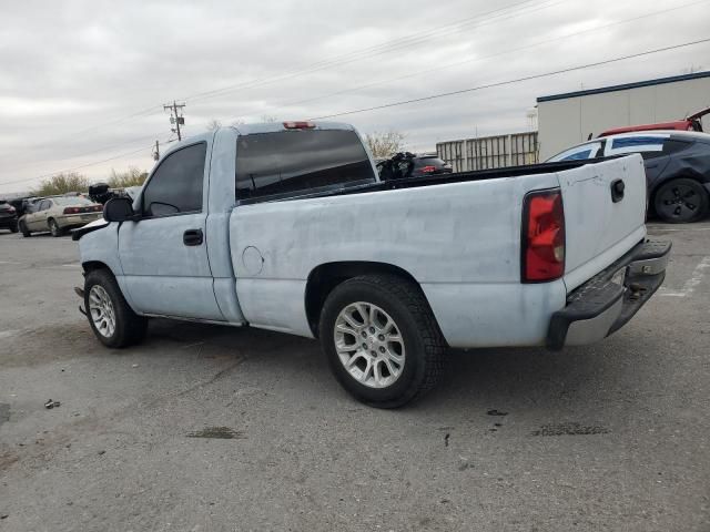
<svg viewBox="0 0 710 532"><path fill-rule="evenodd" d="M109 347L149 317L320 338L339 382L397 407L446 349L601 340L661 285L639 155L381 182L336 123L223 127L165 153L73 233Z"/></svg>

